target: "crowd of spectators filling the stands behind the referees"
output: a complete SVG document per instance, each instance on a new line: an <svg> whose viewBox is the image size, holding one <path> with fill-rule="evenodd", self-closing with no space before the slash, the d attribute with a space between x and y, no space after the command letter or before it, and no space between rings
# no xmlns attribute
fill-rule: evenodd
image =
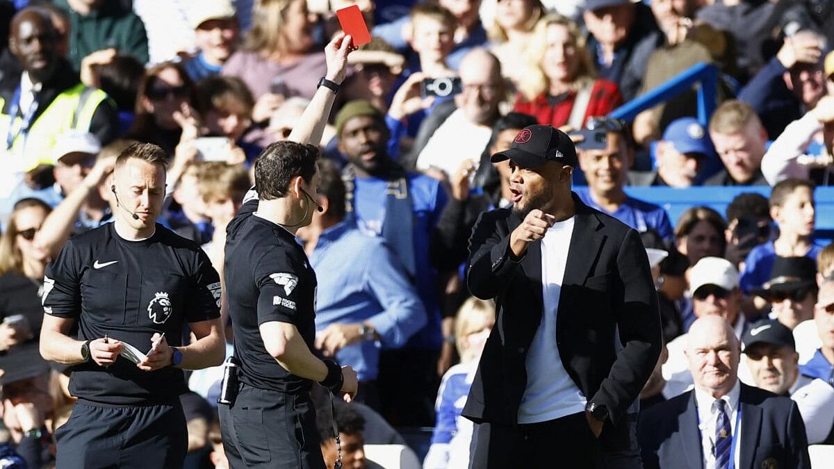
<svg viewBox="0 0 834 469"><path fill-rule="evenodd" d="M834 444L834 247L815 237L832 214L814 200L834 184L830 2L0 0L0 461L53 461L72 369L38 355L43 272L123 209L115 157L133 141L168 154L159 223L203 245L223 280L254 159L289 136L324 76L334 11L354 4L373 39L349 55L320 142L320 213L299 231L319 278L316 345L359 375L359 403L334 416L345 461L433 426L425 467L466 465L461 400L495 322L466 291L467 240L481 212L512 203L490 155L531 124L591 131L575 137L575 192L643 236L666 350L642 405L693 385L687 330L718 315L748 347L739 379L794 396L808 442ZM707 125L694 88L631 123L606 117L705 62L719 71ZM630 185L742 187L726 214L675 220ZM768 319L788 332L753 340ZM190 376L188 467L224 467L221 374Z"/></svg>

